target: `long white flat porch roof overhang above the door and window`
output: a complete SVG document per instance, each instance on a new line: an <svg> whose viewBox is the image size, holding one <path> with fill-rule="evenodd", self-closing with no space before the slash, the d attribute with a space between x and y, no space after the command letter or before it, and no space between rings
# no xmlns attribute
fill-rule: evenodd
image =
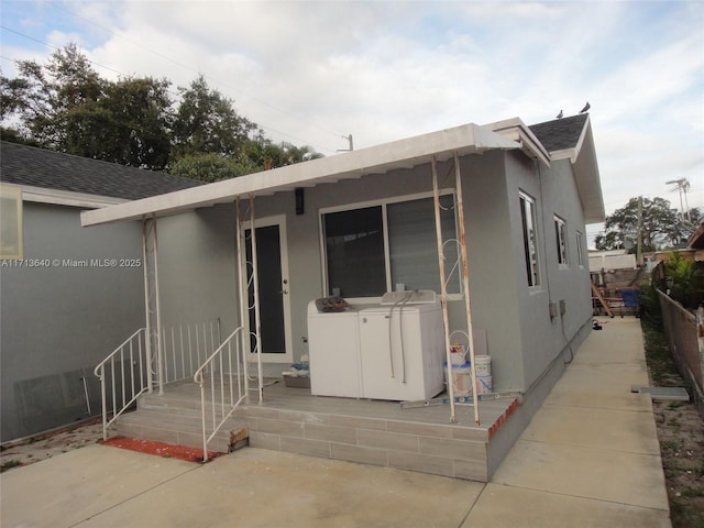
<svg viewBox="0 0 704 528"><path fill-rule="evenodd" d="M290 191L297 187L315 187L393 169L411 168L430 163L433 156L438 161L446 161L454 153L481 154L497 148L514 150L521 148L521 145L487 128L469 123L330 157L84 211L81 224L88 227L175 215L232 202L238 197L267 196Z"/></svg>

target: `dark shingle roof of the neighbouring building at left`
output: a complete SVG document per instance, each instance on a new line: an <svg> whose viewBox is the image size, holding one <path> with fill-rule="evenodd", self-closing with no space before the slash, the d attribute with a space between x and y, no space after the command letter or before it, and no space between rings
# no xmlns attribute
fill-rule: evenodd
<svg viewBox="0 0 704 528"><path fill-rule="evenodd" d="M117 163L0 142L0 180L135 200L202 185L202 182Z"/></svg>

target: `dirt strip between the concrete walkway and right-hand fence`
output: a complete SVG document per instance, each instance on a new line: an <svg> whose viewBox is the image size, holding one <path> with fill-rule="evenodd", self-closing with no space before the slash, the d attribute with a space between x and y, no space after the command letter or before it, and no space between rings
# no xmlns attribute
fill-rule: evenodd
<svg viewBox="0 0 704 528"><path fill-rule="evenodd" d="M684 387L662 334L646 329L650 383ZM691 391L690 391L691 394ZM653 399L673 528L704 528L704 419L689 402Z"/></svg>

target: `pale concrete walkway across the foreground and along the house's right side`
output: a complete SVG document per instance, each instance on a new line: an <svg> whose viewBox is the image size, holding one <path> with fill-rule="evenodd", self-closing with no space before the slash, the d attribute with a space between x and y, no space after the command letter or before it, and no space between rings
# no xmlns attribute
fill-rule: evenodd
<svg viewBox="0 0 704 528"><path fill-rule="evenodd" d="M488 484L248 448L91 446L0 475L10 527L670 527L640 326L592 332Z"/></svg>

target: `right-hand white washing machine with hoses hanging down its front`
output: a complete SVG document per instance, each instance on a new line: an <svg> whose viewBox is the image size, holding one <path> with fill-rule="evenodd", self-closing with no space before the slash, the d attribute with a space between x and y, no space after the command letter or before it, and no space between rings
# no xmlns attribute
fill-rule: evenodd
<svg viewBox="0 0 704 528"><path fill-rule="evenodd" d="M442 307L435 292L385 294L381 306L360 310L359 328L363 397L421 400L444 389Z"/></svg>

